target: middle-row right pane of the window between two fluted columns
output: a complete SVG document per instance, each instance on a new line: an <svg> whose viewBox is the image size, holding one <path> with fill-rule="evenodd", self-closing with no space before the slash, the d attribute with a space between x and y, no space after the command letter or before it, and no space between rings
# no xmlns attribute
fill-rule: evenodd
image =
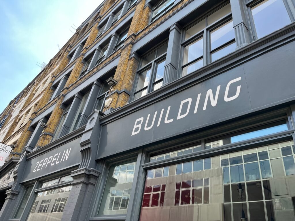
<svg viewBox="0 0 295 221"><path fill-rule="evenodd" d="M232 20L222 24L217 29L210 32L211 50L231 41L235 38Z"/></svg>

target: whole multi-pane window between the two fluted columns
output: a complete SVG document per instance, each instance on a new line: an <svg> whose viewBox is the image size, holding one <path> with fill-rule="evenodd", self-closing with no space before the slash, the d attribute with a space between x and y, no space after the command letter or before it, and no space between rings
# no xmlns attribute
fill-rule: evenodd
<svg viewBox="0 0 295 221"><path fill-rule="evenodd" d="M187 28L184 37L182 76L233 52L236 44L230 4Z"/></svg>

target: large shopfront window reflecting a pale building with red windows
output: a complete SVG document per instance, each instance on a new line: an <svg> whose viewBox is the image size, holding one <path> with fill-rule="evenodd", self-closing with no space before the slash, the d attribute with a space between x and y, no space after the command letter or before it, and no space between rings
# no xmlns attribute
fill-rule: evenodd
<svg viewBox="0 0 295 221"><path fill-rule="evenodd" d="M148 170L140 220L295 220L294 159L286 141Z"/></svg>

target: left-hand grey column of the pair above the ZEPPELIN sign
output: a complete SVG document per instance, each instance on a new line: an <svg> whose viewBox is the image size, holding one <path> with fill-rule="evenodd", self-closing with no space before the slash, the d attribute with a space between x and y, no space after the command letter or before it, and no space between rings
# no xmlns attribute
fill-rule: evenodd
<svg viewBox="0 0 295 221"><path fill-rule="evenodd" d="M67 116L65 118L65 121L63 122L63 125L60 128L58 138L66 135L67 133L69 133L71 124L73 123L73 119L75 117L75 114L76 114L76 112L78 110L78 107L79 107L79 105L81 103L82 98L83 98L83 95L80 92L78 92L75 95L75 98L74 98L74 100L73 100L73 102L71 104L71 107L70 107L70 109L68 111L68 114L67 114Z"/></svg>

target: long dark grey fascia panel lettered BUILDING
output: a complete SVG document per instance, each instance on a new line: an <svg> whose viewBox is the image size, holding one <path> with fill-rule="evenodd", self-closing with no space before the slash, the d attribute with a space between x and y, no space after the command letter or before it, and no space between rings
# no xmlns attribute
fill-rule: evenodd
<svg viewBox="0 0 295 221"><path fill-rule="evenodd" d="M243 113L255 111L265 105L276 105L287 99L294 100L295 63L290 62L290 60L295 60L292 50L294 47L295 43L291 42L117 121L103 125L98 158L241 116ZM241 77L241 80L230 86L229 97L235 94L238 85L241 85L240 95L235 100L225 102L223 99L225 87L230 80L237 77ZM207 90L212 89L215 96L218 85L221 87L217 105L212 107L208 100L207 109L203 110ZM199 107L197 113L194 114L199 93L201 93ZM187 98L192 98L189 114L185 118L176 120L180 103ZM171 106L168 120L171 118L174 120L165 124L164 118L168 106ZM157 127L162 108L165 110L160 126ZM150 126L155 111L158 111L158 116L153 128L144 131L148 114L151 114L148 123ZM138 134L131 136L135 121L140 117L144 117L142 128ZM109 136L109 134L116 134L116 136Z"/></svg>

